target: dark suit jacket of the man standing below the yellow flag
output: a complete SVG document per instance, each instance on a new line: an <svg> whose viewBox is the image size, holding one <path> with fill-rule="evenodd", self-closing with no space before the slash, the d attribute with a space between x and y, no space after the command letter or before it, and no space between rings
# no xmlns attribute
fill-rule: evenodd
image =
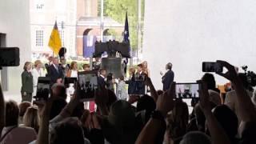
<svg viewBox="0 0 256 144"><path fill-rule="evenodd" d="M54 65L51 65L49 67L49 77L51 84L54 84L57 82L58 78L64 78L63 70L60 66L58 66L58 70L55 69Z"/></svg>

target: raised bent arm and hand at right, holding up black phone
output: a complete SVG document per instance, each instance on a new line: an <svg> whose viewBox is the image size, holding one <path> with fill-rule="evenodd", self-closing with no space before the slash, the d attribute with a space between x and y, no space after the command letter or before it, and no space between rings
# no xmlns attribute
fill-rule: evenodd
<svg viewBox="0 0 256 144"><path fill-rule="evenodd" d="M254 104L250 100L250 96L247 94L246 89L242 86L241 80L238 78L234 66L230 65L228 62L217 61L222 66L226 67L228 72L226 74L218 73L224 78L229 79L237 94L238 99L238 110L240 111L240 116L243 122L255 122L256 121L256 111L254 109Z"/></svg>

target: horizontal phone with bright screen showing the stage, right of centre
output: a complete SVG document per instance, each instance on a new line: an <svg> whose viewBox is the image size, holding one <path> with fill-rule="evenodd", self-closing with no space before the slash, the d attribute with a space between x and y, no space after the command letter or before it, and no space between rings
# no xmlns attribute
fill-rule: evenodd
<svg viewBox="0 0 256 144"><path fill-rule="evenodd" d="M176 98L199 98L198 90L201 88L200 83L176 83Z"/></svg>

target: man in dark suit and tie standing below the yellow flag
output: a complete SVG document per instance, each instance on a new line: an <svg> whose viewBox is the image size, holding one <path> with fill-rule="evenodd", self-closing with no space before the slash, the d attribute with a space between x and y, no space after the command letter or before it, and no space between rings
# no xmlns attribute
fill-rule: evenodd
<svg viewBox="0 0 256 144"><path fill-rule="evenodd" d="M62 83L64 74L62 68L58 65L58 58L54 58L53 64L49 68L49 72L51 84Z"/></svg>

